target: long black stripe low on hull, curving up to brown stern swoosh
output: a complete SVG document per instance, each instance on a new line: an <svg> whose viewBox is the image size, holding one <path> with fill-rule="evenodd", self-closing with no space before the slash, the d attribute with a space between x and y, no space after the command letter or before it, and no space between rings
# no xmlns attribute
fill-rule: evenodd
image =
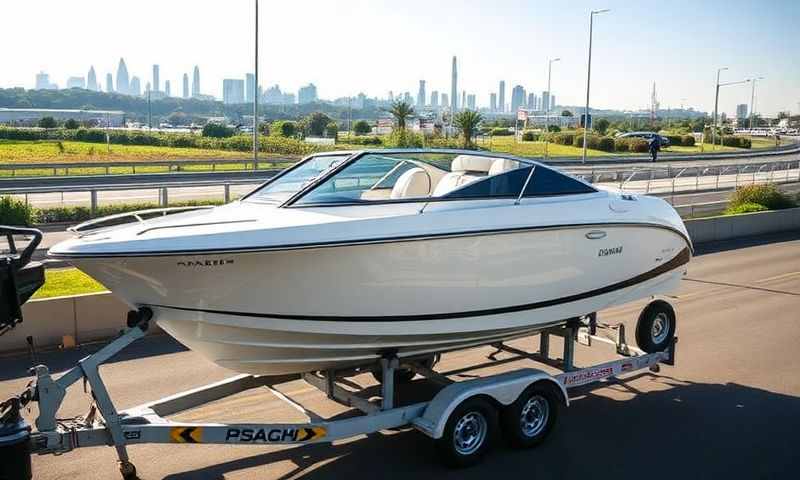
<svg viewBox="0 0 800 480"><path fill-rule="evenodd" d="M525 312L540 308L554 307L565 303L577 302L580 300L585 300L587 298L605 295L608 293L615 292L617 290L622 290L640 283L644 283L648 280L658 277L659 275L671 272L672 270L675 270L683 265L686 265L687 263L689 263L689 260L691 260L691 252L689 251L689 248L684 248L678 255L676 255L669 262L663 263L658 267L654 268L653 270L650 270L649 272L645 272L641 275L637 275L633 278L615 283L613 285L608 285L606 287L590 290L588 292L578 293L575 295L569 295L566 297L556 298L552 300L545 300L542 302L526 303L524 305L514 305L510 307L500 307L500 308L492 308L486 310L473 310L468 312L432 313L432 314L421 314L421 315L347 317L347 316L330 316L330 315L284 315L284 314L247 313L247 312L235 312L226 310L208 310L202 308L176 307L171 305L152 305L152 306L158 308L168 308L171 310L181 310L186 312L209 313L215 315L231 315L235 317L273 318L278 320L306 320L306 321L318 321L318 322L419 322L427 320L450 320L456 318L485 317L490 315L501 315L504 313Z"/></svg>

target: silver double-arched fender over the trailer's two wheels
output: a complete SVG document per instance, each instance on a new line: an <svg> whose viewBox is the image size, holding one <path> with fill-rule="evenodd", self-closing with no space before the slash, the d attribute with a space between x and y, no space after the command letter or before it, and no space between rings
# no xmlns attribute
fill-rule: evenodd
<svg viewBox="0 0 800 480"><path fill-rule="evenodd" d="M444 434L447 419L464 400L476 395L492 398L500 405L514 403L519 395L535 382L546 381L558 385L564 405L569 405L567 390L552 375L535 368L524 368L513 372L492 375L448 385L433 397L422 416L411 423L431 438L439 439Z"/></svg>

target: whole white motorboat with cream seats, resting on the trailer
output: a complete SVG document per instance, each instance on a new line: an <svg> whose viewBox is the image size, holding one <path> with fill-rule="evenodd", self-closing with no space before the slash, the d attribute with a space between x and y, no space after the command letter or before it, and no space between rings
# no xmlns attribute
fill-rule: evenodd
<svg viewBox="0 0 800 480"><path fill-rule="evenodd" d="M450 150L318 154L228 205L76 231L49 255L262 375L529 334L668 293L692 252L661 199Z"/></svg>

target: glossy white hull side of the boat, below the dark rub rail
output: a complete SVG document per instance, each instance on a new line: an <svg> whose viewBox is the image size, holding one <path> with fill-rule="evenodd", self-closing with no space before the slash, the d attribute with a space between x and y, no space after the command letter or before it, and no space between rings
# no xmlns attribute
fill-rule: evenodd
<svg viewBox="0 0 800 480"><path fill-rule="evenodd" d="M668 293L689 258L681 232L602 224L73 262L208 359L277 375L533 333Z"/></svg>

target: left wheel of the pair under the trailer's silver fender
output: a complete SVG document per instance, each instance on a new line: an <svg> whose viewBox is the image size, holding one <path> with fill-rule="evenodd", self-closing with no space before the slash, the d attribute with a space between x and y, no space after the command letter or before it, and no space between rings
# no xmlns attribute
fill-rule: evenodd
<svg viewBox="0 0 800 480"><path fill-rule="evenodd" d="M445 465L469 467L483 459L496 433L497 410L489 401L473 397L450 414L442 438L436 440L436 448Z"/></svg>

